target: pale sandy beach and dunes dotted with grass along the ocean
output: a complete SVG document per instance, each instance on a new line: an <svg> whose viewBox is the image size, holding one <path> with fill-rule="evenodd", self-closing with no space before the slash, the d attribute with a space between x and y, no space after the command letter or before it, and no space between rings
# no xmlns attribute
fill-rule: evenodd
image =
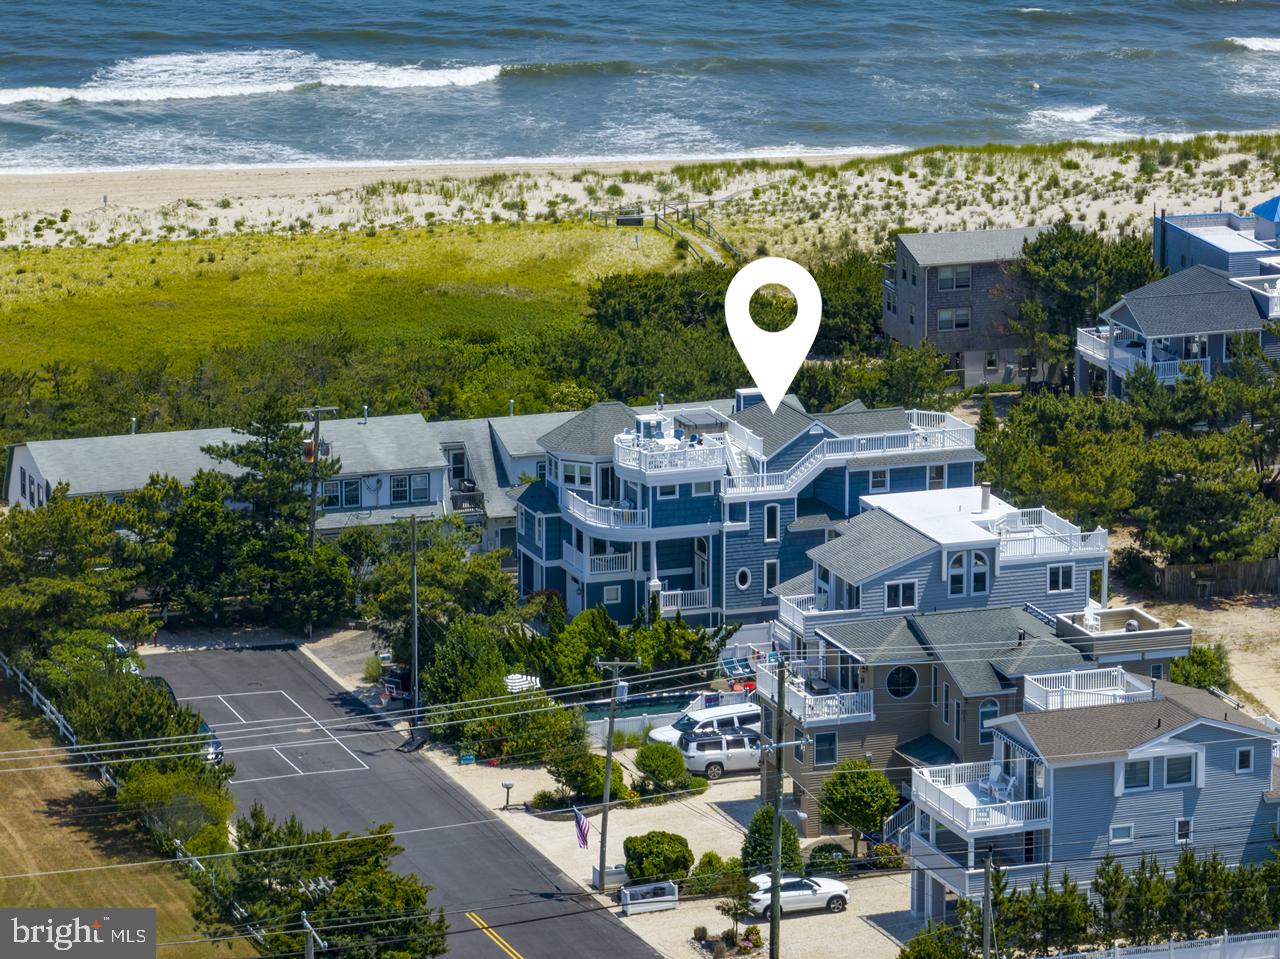
<svg viewBox="0 0 1280 959"><path fill-rule="evenodd" d="M878 243L892 230L1048 223L1116 233L1152 213L1247 210L1276 191L1276 164L1231 137L1124 152L937 150L771 157L765 164L617 160L256 166L0 174L0 242L99 245L225 234L558 220L690 202L746 252L804 255ZM804 160L797 169L788 160ZM855 163L844 165L849 160ZM681 165L684 164L684 168Z"/></svg>

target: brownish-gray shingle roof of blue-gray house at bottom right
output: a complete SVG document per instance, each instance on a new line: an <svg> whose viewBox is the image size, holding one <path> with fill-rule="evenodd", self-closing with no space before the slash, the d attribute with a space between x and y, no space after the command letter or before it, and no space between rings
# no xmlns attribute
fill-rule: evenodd
<svg viewBox="0 0 1280 959"><path fill-rule="evenodd" d="M1157 736L1198 720L1213 720L1270 735L1270 730L1212 693L1157 684L1164 699L1115 705L1018 713L1016 722L1048 762L1124 755Z"/></svg>

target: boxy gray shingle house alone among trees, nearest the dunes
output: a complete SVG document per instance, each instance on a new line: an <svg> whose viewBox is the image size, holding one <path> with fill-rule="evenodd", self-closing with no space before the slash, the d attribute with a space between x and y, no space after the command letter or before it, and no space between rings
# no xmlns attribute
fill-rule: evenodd
<svg viewBox="0 0 1280 959"><path fill-rule="evenodd" d="M884 265L884 333L906 346L933 343L963 387L1024 378L1033 361L1009 330L1020 298L1009 266L1047 229L899 233L895 260ZM1042 376L1033 370L1033 379Z"/></svg>

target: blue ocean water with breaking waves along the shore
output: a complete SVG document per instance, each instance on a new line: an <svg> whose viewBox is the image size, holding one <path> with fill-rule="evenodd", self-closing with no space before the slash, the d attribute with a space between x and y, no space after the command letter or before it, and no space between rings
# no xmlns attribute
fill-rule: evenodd
<svg viewBox="0 0 1280 959"><path fill-rule="evenodd" d="M1280 3L1041 3L0 0L0 170L1280 127Z"/></svg>

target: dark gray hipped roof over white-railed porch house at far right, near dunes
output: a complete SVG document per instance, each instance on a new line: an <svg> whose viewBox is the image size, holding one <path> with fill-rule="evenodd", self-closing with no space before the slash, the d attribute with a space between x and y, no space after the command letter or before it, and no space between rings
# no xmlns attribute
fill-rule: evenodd
<svg viewBox="0 0 1280 959"><path fill-rule="evenodd" d="M1260 330L1263 325L1253 294L1202 264L1125 293L1123 305L1128 316L1116 314L1116 319L1132 320L1147 337Z"/></svg>

